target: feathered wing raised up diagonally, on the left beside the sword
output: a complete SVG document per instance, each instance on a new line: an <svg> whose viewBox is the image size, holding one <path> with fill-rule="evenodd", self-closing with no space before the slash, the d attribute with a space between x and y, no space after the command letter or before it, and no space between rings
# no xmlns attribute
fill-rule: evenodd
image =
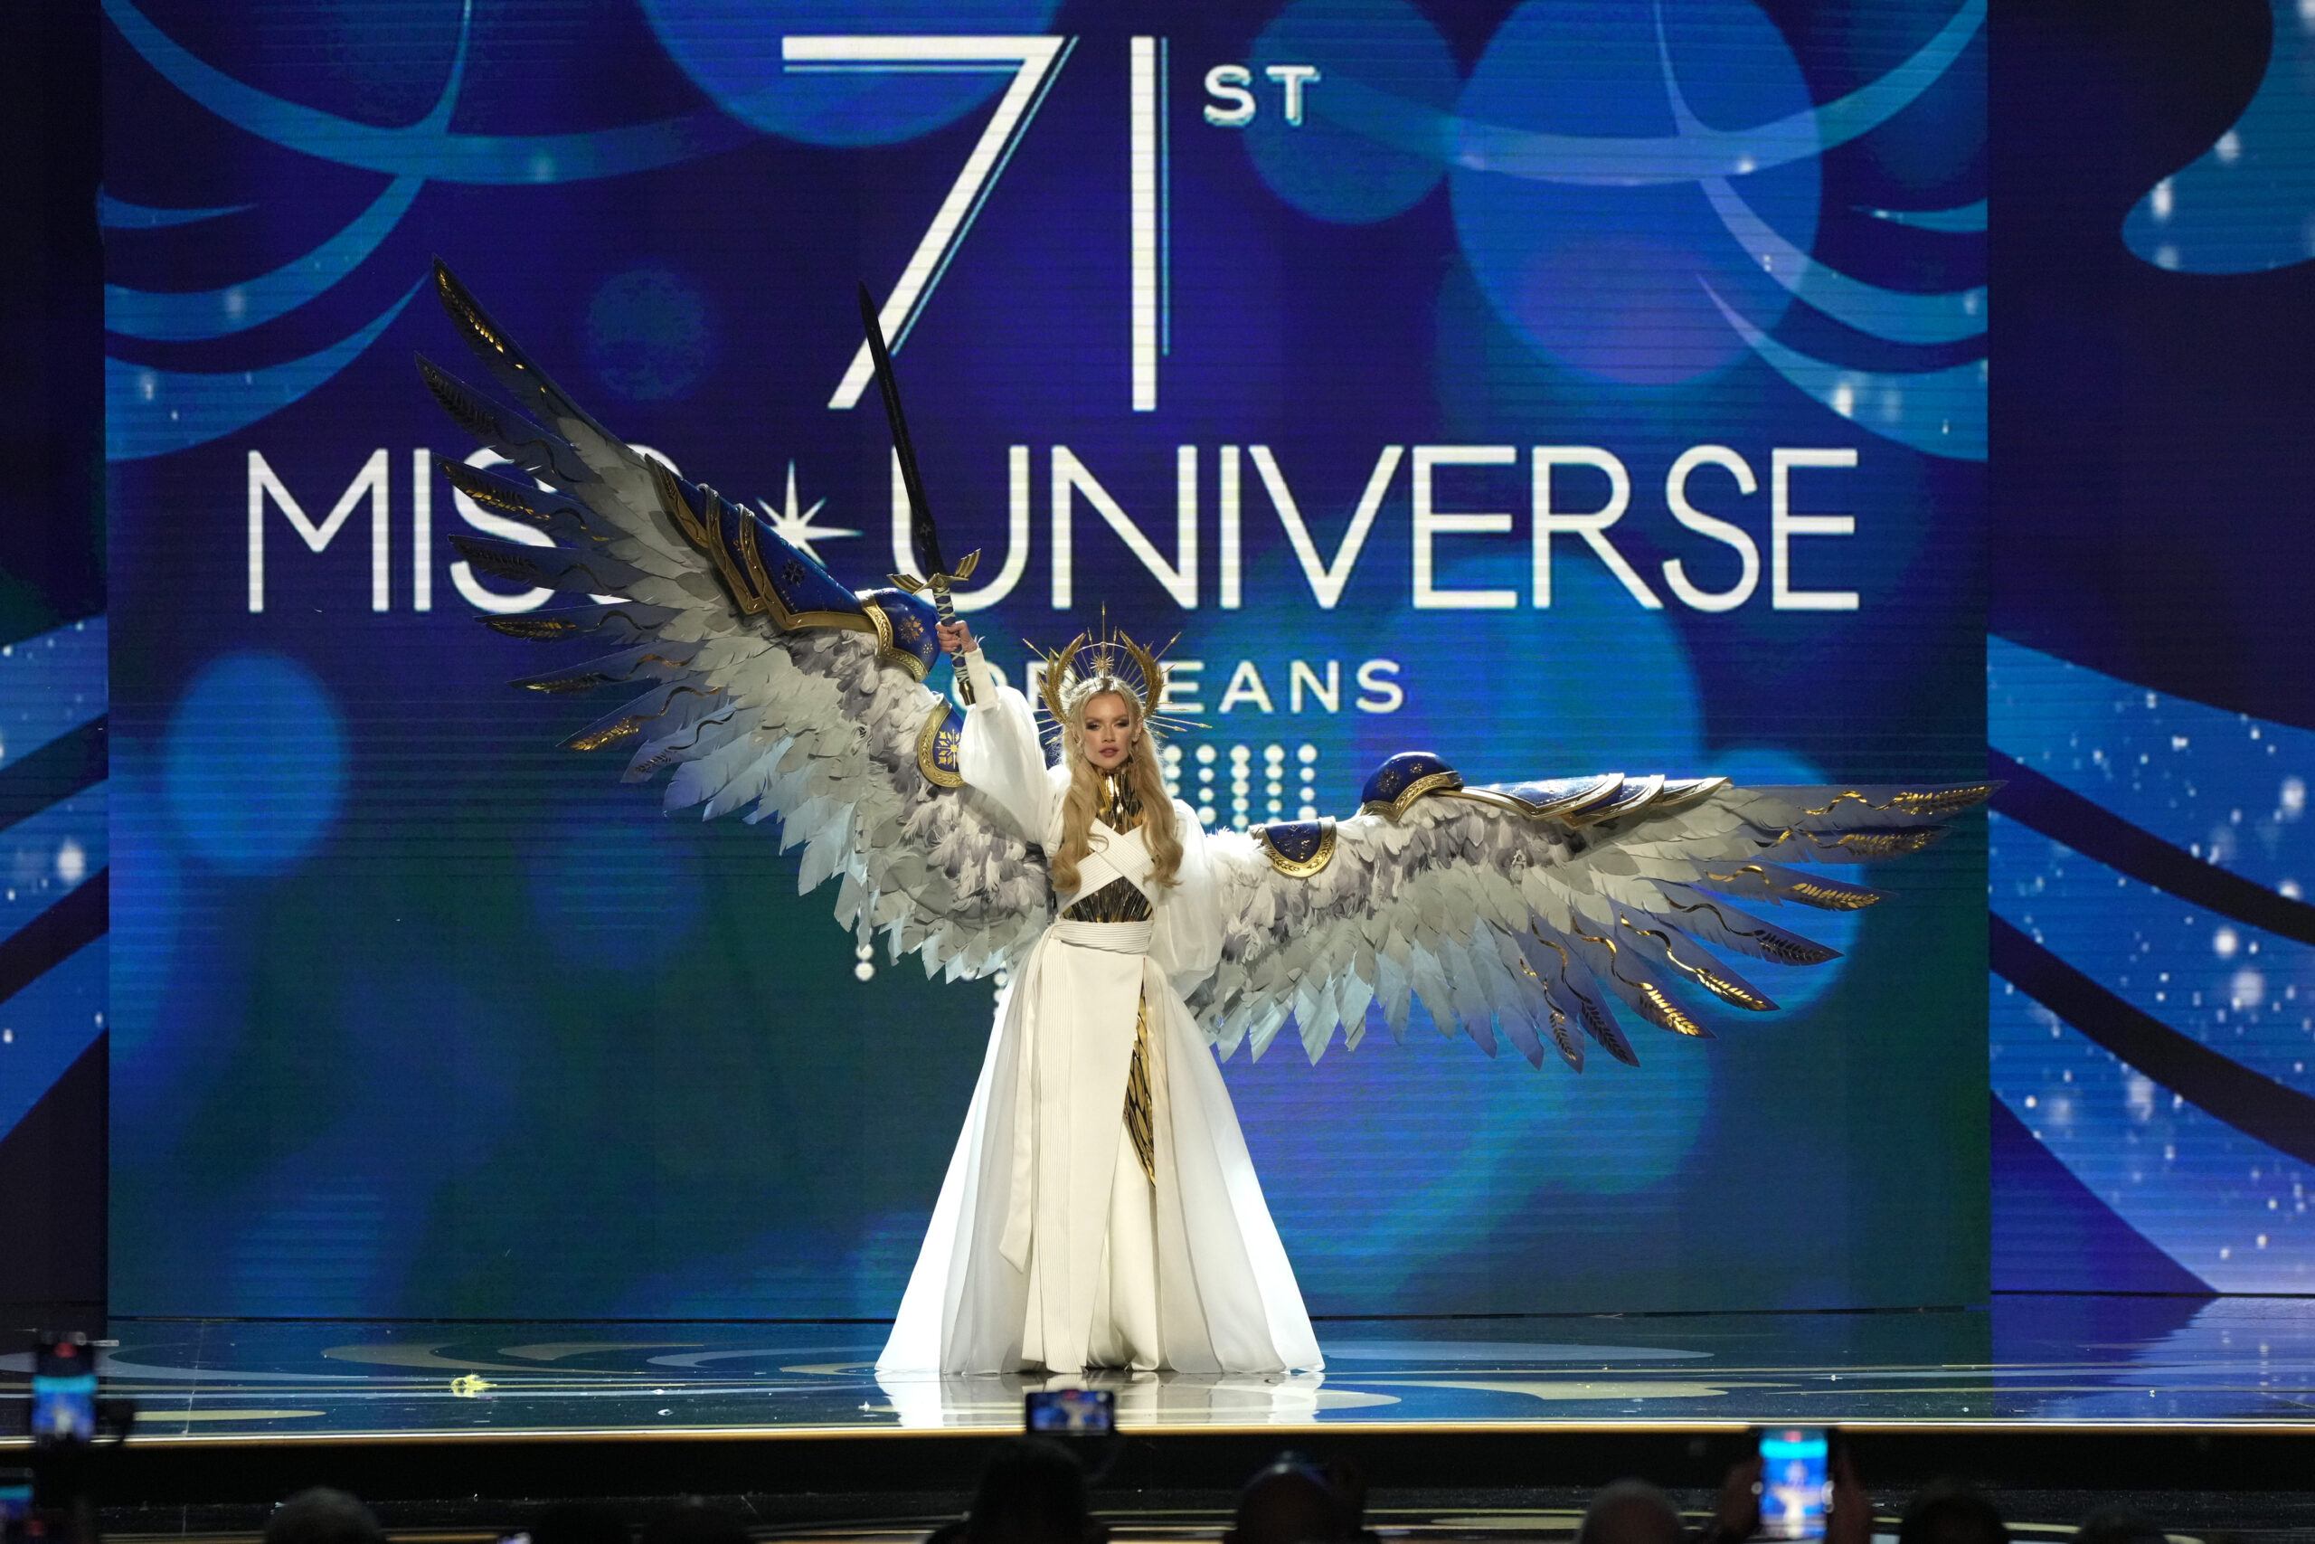
<svg viewBox="0 0 2315 1544"><path fill-rule="evenodd" d="M778 817L780 847L803 845L799 894L840 877L836 919L861 940L887 933L928 975L984 975L1023 956L1044 926L1044 856L954 775L956 715L921 683L935 657L931 606L901 590L854 595L750 509L637 456L442 264L435 289L521 412L426 359L419 373L465 431L530 477L442 470L551 542L458 532L451 544L484 574L583 602L486 620L512 637L616 646L516 685L646 688L563 743L632 748L625 780L669 773L669 810Z"/></svg>

